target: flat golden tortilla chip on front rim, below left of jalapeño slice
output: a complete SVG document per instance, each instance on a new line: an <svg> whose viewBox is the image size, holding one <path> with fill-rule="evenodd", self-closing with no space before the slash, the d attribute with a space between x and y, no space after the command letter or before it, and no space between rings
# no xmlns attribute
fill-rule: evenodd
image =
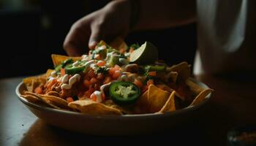
<svg viewBox="0 0 256 146"><path fill-rule="evenodd" d="M90 115L122 115L121 111L90 99L69 102L69 107Z"/></svg>

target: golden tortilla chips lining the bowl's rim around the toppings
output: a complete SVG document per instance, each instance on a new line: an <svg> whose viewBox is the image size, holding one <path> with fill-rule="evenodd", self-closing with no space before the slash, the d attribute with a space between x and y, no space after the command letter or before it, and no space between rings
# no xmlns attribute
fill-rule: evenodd
<svg viewBox="0 0 256 146"><path fill-rule="evenodd" d="M53 62L56 61L56 58L61 62L68 57L53 55ZM81 99L68 103L66 100L61 99L56 91L50 91L45 94L34 93L37 86L45 84L50 72L53 71L50 69L46 74L24 79L23 83L26 85L27 91L23 91L21 96L32 103L59 110L83 112L91 115L123 115L173 112L200 104L213 91L210 88L201 88L200 85L197 85L189 78L189 65L185 62L171 66L168 70L171 76L169 80L173 80L176 87L186 88L175 88L175 85L165 85L164 83L149 85L148 90L132 106L120 106L110 99L102 103L97 103L90 99ZM190 99L185 96L189 96Z"/></svg>

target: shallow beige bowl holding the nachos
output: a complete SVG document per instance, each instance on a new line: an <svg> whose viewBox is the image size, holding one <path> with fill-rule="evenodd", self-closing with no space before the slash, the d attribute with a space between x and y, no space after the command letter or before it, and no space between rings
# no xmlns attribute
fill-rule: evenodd
<svg viewBox="0 0 256 146"><path fill-rule="evenodd" d="M202 88L208 88L203 82L196 81ZM131 135L151 134L155 131L165 131L198 118L198 110L206 104L211 94L197 106L187 107L174 112L164 114L143 114L143 115L86 115L80 112L69 112L56 110L50 107L42 107L33 104L20 96L26 90L23 82L16 88L18 99L29 108L38 118L45 120L50 125L64 128L71 131L79 131L85 134L95 135Z"/></svg>

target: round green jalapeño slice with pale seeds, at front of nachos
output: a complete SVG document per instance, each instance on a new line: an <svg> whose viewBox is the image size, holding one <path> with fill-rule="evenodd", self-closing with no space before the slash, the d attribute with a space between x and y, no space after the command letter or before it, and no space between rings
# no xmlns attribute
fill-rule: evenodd
<svg viewBox="0 0 256 146"><path fill-rule="evenodd" d="M140 88L132 82L113 82L109 93L116 104L133 104L140 97Z"/></svg>

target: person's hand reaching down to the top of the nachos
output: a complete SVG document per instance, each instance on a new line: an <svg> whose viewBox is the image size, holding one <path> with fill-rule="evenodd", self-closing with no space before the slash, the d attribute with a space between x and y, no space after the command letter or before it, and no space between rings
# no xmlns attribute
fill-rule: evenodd
<svg viewBox="0 0 256 146"><path fill-rule="evenodd" d="M82 55L89 46L94 48L103 39L124 38L129 32L130 4L127 0L111 1L102 9L76 21L64 40L68 55Z"/></svg>

